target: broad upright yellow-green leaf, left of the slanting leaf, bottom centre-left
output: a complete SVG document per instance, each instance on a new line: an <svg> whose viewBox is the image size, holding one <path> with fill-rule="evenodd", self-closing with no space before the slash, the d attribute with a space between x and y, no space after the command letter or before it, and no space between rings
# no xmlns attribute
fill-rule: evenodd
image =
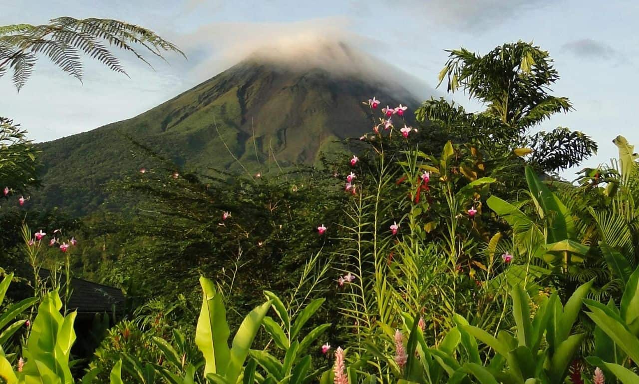
<svg viewBox="0 0 639 384"><path fill-rule="evenodd" d="M215 291L211 280L200 277L202 309L197 319L196 345L204 355L204 376L218 373L224 376L229 364L228 339L231 331L226 323L226 309L222 296Z"/></svg>

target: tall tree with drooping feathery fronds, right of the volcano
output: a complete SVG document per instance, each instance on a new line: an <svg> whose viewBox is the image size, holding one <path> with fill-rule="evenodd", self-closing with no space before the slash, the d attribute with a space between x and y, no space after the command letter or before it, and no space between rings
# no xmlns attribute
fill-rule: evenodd
<svg viewBox="0 0 639 384"><path fill-rule="evenodd" d="M466 49L449 50L439 75L447 91L460 89L486 109L468 113L443 98L427 100L416 112L419 121L445 126L452 139L465 139L488 149L495 157L520 147L532 148L528 162L552 172L596 153L597 144L581 132L558 127L531 135L531 128L573 105L566 97L550 95L559 75L548 52L532 43L506 43L481 56Z"/></svg>

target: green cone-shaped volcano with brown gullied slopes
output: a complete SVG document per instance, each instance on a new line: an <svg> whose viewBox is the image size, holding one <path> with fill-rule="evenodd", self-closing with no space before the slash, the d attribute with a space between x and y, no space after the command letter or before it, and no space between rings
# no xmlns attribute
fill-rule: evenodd
<svg viewBox="0 0 639 384"><path fill-rule="evenodd" d="M337 48L357 59L346 47ZM325 53L335 65L334 50ZM78 215L94 210L104 201L107 181L152 164L128 137L200 173L239 171L234 156L251 172L275 169L273 159L281 167L313 164L319 153L339 150L339 139L371 130L363 100L376 96L384 105L418 105L387 73L375 79L363 70L253 56L139 116L40 144L43 188L33 203Z"/></svg>

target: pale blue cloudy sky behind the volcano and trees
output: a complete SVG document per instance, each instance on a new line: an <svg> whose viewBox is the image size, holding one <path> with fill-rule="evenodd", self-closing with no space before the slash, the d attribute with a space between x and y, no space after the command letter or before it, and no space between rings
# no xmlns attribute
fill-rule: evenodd
<svg viewBox="0 0 639 384"><path fill-rule="evenodd" d="M639 105L635 1L14 0L1 8L0 25L44 24L63 15L124 20L155 31L187 56L168 54L166 63L151 59L150 68L116 52L130 78L86 59L82 82L40 59L20 93L5 75L0 78L0 116L21 123L36 142L132 118L259 47L284 42L289 49L307 49L324 39L346 41L410 74L415 81L407 88L423 89L422 98L437 85L446 49L486 53L505 42L532 41L555 61L561 79L553 94L569 97L575 109L555 115L541 129L569 127L593 137L599 152L587 166L617 155L616 135L639 143L630 113ZM272 52L286 55L290 50ZM450 97L470 111L481 109L465 95ZM574 178L575 171L564 177Z"/></svg>

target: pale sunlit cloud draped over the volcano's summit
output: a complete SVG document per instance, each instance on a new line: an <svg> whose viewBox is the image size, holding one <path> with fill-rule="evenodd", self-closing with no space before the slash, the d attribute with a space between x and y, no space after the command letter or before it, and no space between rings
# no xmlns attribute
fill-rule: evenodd
<svg viewBox="0 0 639 384"><path fill-rule="evenodd" d="M213 23L181 36L178 46L186 50L194 65L192 73L200 80L250 58L296 71L321 68L336 76L381 81L418 98L435 94L431 87L371 54L385 43L352 33L346 26L345 18Z"/></svg>

